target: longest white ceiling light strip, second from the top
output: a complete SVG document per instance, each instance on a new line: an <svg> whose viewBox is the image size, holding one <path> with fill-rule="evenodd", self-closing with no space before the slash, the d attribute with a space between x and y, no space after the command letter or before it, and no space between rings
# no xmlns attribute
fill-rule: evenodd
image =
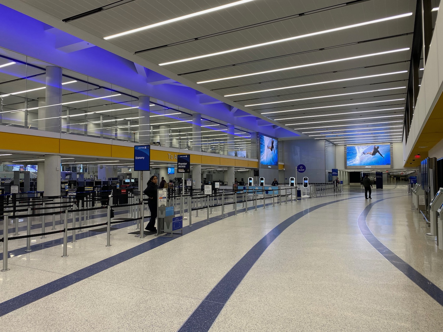
<svg viewBox="0 0 443 332"><path fill-rule="evenodd" d="M316 35L322 35L322 34L326 34L326 33L330 33L330 32L351 29L351 28L354 28L354 27L362 27L362 26L370 25L370 24L374 24L374 23L386 22L386 21L390 21L392 19L400 19L400 18L403 18L403 17L411 16L411 15L412 15L412 12L411 13L401 14L401 15L389 16L389 17L385 17L385 18L382 18L382 19L374 19L374 20L371 20L371 21L351 24L351 25L347 25L347 26L344 26L344 27L337 27L337 28L323 30L323 31L311 32L311 33L308 33L308 34L305 34L305 35L299 35L299 36L293 36L293 37L284 38L284 39L273 40L271 42L263 42L263 43L260 43L260 44L238 47L238 48L234 48L232 50L224 50L224 51L220 51L220 52L199 55L199 56L196 56L196 57L175 60L175 61L171 61L171 62L163 62L163 63L159 63L159 66L166 66L166 65L171 65L171 64L174 64L174 63L179 63L179 62L185 62L185 61L190 61L190 60L207 58L207 57L212 57L212 56L215 56L215 55L232 53L232 52L237 52L237 51L241 51L241 50L248 50L250 48L272 45L272 44L276 44L276 43L279 43L279 42L288 42L288 41L295 40L295 39L301 39L301 38L312 37L312 36L316 36Z"/></svg>

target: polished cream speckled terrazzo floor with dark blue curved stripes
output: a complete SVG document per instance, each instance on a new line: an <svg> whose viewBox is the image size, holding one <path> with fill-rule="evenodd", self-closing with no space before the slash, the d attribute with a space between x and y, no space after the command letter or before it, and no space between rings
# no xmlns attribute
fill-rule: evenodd
<svg viewBox="0 0 443 332"><path fill-rule="evenodd" d="M238 204L237 216L231 205L225 219L214 209L210 223L194 212L172 239L136 238L130 224L112 247L101 233L69 243L66 258L61 245L17 255L0 273L0 330L441 331L443 251L411 203L406 186L372 201L347 188Z"/></svg>

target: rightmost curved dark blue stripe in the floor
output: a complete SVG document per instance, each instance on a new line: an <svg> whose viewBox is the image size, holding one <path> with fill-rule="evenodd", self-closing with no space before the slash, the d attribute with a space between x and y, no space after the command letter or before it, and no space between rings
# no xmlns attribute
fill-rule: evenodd
<svg viewBox="0 0 443 332"><path fill-rule="evenodd" d="M374 204L384 201L388 198L383 198L379 201L375 201L361 212L358 217L358 228L360 228L361 234L365 239L375 248L377 251L385 257L393 266L403 272L409 279L417 284L422 290L424 290L430 297L437 301L440 305L443 305L443 291L439 289L434 283L429 281L423 274L415 270L412 266L406 263L403 259L394 254L388 247L381 243L375 235L371 232L366 224L366 217L368 216L369 210Z"/></svg>

